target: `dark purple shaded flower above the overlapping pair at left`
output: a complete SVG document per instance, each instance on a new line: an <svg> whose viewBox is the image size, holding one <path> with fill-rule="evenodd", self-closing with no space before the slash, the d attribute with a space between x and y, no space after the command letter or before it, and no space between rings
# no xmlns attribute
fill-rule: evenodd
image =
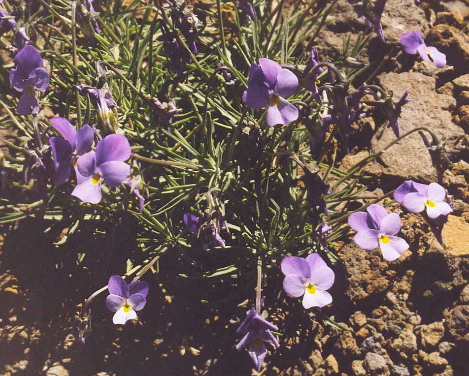
<svg viewBox="0 0 469 376"><path fill-rule="evenodd" d="M32 45L22 48L14 59L16 68L10 70L10 84L21 93L18 101L20 115L35 114L39 110L34 89L45 92L49 86L49 73L42 67L42 58ZM31 107L33 109L31 110Z"/></svg>

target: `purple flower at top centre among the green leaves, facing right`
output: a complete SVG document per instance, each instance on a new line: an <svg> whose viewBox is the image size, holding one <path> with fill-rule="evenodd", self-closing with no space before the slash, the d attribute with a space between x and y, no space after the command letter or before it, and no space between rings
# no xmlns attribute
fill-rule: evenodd
<svg viewBox="0 0 469 376"><path fill-rule="evenodd" d="M268 105L266 122L269 126L289 124L298 119L298 108L284 96L293 94L298 88L298 78L290 70L282 68L270 59L259 59L259 65L251 63L248 88L243 102L252 109Z"/></svg>

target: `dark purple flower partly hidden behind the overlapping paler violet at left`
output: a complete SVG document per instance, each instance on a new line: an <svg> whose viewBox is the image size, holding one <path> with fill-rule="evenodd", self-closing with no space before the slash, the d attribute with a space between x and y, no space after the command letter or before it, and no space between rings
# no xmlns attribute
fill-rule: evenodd
<svg viewBox="0 0 469 376"><path fill-rule="evenodd" d="M64 184L70 177L70 167L73 166L76 172L78 184L83 181L83 177L76 168L76 159L89 152L93 145L94 133L91 126L85 124L77 132L67 119L55 117L51 118L52 126L62 134L63 137L51 137L49 140L54 159L54 174L52 181L55 184Z"/></svg>

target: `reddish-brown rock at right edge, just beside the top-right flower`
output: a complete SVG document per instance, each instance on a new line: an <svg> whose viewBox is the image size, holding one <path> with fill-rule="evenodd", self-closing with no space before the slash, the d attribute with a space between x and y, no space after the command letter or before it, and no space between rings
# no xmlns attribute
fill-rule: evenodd
<svg viewBox="0 0 469 376"><path fill-rule="evenodd" d="M454 65L457 71L467 73L469 36L463 31L449 25L436 25L430 30L425 42L446 54L448 65Z"/></svg>

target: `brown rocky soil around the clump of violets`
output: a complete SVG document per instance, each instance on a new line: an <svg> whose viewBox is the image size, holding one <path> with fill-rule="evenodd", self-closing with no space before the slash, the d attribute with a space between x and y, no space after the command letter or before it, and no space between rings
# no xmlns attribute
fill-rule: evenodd
<svg viewBox="0 0 469 376"><path fill-rule="evenodd" d="M323 57L338 52L345 32L363 30L363 22L345 0L338 7L342 12L322 32ZM323 313L305 312L300 302L285 299L269 312L283 336L281 347L268 356L263 375L469 375L469 2L388 0L385 9L387 44L372 40L364 55L370 63L377 54L389 57L376 83L396 98L410 92L400 120L402 132L426 126L449 149L461 151L462 159L438 174L415 133L370 163L366 174L370 189L385 191L407 179L439 180L454 205L441 234L444 246L434 228L414 214L403 214L402 220L410 251L392 263L385 262L378 250L364 251L351 238L341 239L331 290L334 303ZM446 54L447 67L436 69L399 52L398 34L414 29L426 35L427 45ZM342 168L393 140L392 130L383 123L380 114L363 120L372 137L357 143ZM402 214L399 205L392 209ZM101 307L102 298L95 307L93 334L80 345L72 324L75 305L106 283L104 272L111 267L103 267L98 257L96 265L77 272L67 266L76 251L51 245L58 234L39 240L42 232L34 223L4 229L8 236L4 234L0 254L3 375L256 374L247 353L234 350L236 327L248 309L245 297L236 294L235 283L221 281L217 286L228 303L205 305L200 300L214 289L212 285L187 280L161 284L151 292L139 319L125 327L112 325L110 314ZM126 239L132 238L132 230L127 232ZM125 241L120 245L127 246ZM103 241L88 247L109 245ZM116 250L116 262L123 254ZM167 262L160 268L170 276L171 260ZM280 273L268 286L267 307L281 290ZM323 314L334 316L347 330L329 325Z"/></svg>

